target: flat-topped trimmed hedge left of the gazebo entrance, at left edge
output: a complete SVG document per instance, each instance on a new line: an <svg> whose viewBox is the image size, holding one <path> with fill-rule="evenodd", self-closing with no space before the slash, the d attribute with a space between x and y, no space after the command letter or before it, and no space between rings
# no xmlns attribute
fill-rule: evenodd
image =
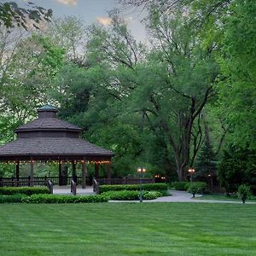
<svg viewBox="0 0 256 256"><path fill-rule="evenodd" d="M49 194L49 189L47 187L37 188L37 187L2 187L0 188L0 195L15 195L15 194Z"/></svg>

